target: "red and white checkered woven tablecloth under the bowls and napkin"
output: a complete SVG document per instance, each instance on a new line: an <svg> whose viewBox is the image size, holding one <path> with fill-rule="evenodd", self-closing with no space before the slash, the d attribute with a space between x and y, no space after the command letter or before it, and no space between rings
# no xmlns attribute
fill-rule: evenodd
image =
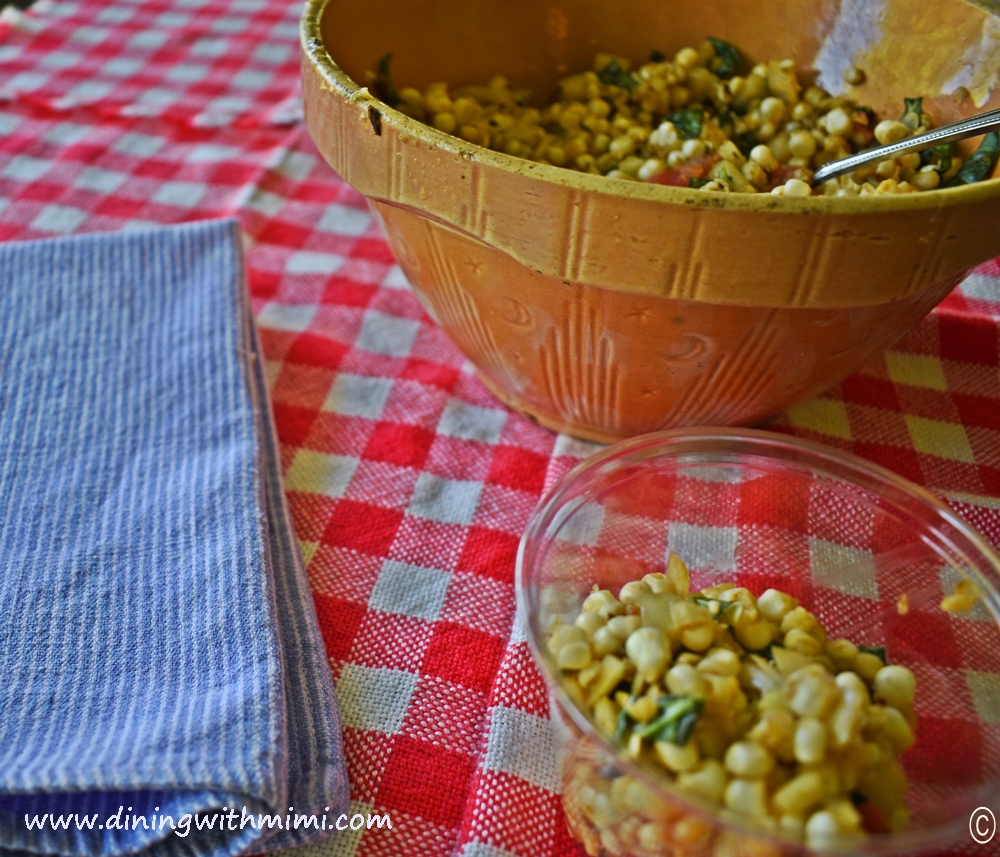
<svg viewBox="0 0 1000 857"><path fill-rule="evenodd" d="M577 855L513 571L543 489L593 447L485 391L363 199L318 157L301 122L299 13L297 0L5 11L0 240L242 223L352 801L393 823L310 857ZM927 486L1000 545L998 321L991 262L769 427ZM969 693L1000 695L977 681Z"/></svg>

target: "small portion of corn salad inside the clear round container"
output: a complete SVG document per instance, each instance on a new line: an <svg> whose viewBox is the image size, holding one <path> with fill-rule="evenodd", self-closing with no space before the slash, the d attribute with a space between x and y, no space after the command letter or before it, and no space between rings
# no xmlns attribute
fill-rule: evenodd
<svg viewBox="0 0 1000 857"><path fill-rule="evenodd" d="M689 588L671 554L617 596L595 586L572 624L551 629L564 687L597 729L681 790L812 847L901 829L913 673L884 649L829 639L784 592ZM637 825L630 777L577 776L572 788L593 854L669 852L710 833L691 816Z"/></svg>

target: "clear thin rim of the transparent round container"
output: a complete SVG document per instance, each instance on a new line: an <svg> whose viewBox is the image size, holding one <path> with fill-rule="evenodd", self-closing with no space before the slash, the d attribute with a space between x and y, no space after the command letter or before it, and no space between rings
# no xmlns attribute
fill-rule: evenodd
<svg viewBox="0 0 1000 857"><path fill-rule="evenodd" d="M729 814L723 815L718 807L710 806L697 800L696 798L692 799L690 795L675 789L672 784L655 777L652 772L634 763L630 759L625 758L620 753L619 749L612 743L611 739L604 735L599 729L594 727L591 721L584 714L583 710L566 693L562 682L556 674L556 671L550 664L550 658L548 658L543 652L532 621L533 612L531 608L531 598L529 595L529 586L526 580L526 553L528 551L528 543L532 540L532 538L541 538L543 536L545 529L545 526L543 525L548 525L553 520L554 514L558 511L562 501L562 495L567 491L567 489L577 483L577 481L581 478L586 477L595 471L599 471L602 465L609 460L625 458L630 453L642 450L643 448L653 449L660 447L666 449L671 444L680 446L684 442L711 443L713 441L744 441L751 444L759 444L761 448L755 449L752 452L748 450L746 452L733 452L732 454L753 454L758 458L771 457L781 461L788 461L789 459L778 458L778 456L773 454L769 455L769 449L773 449L776 446L786 448L791 447L792 450L801 456L801 458L791 460L804 464L805 466L820 465L822 467L822 465L829 463L830 465L838 468L840 471L847 470L851 474L858 474L859 476L865 477L875 483L879 481L887 482L892 489L898 491L902 496L916 500L928 511L936 513L936 515L943 520L944 524L953 528L961 537L968 540L970 546L975 551L978 551L980 556L986 560L988 565L992 566L992 570L998 577L1000 577L1000 552L997 551L997 549L986 539L985 536L965 521L960 515L954 512L946 503L939 500L925 488L911 482L905 477L902 477L899 474L882 467L881 465L875 464L874 462L860 458L853 453L828 447L823 444L816 443L815 441L793 435L786 435L779 432L761 429L724 427L679 428L652 432L645 435L639 435L638 437L630 438L628 440L619 441L618 443L607 446L578 462L566 473L560 476L542 495L527 524L525 525L524 532L518 543L514 570L514 588L517 601L517 614L514 621L520 622L521 633L523 633L524 638L528 643L532 658L537 668L542 673L550 694L556 697L559 709L569 717L569 719L573 722L573 725L580 730L581 733L589 735L591 738L596 736L597 741L603 745L609 755L615 759L616 766L618 766L623 773L636 777L655 789L669 792L672 798L680 800L683 803L687 803L699 812L711 816L714 823L722 825L727 829L755 836L772 836L782 842L792 842L792 840L786 840L780 835L768 833L758 827L754 827L752 823L744 822L736 816ZM684 452L690 453L691 450L678 450L678 452L681 454ZM843 481L847 477L843 472L840 472L835 474L834 478ZM870 487L870 485L863 487ZM993 619L1000 624L1000 621L998 621L998 617L1000 617L1000 592L998 592L997 586L992 581L983 577L978 569L974 568L972 572L976 582L983 590L983 601L987 604ZM550 715L551 714L554 714L554 712L550 712ZM980 802L984 805L989 805L991 800L1000 795L1000 779L990 783L988 788L990 789L989 793L984 791L979 795ZM923 853L931 849L956 844L960 833L964 831L965 828L966 824L964 819L956 818L950 822L945 822L932 828L904 830L900 833L891 834L889 836L869 836L865 839L860 848L852 846L849 851L841 850L832 851L830 853L840 855L845 853L863 853L864 855L869 855L869 857L872 857L873 855L884 855L884 857L889 857L889 855L915 854L918 852ZM796 844L800 847L805 847L802 843ZM807 853L808 852L809 849L807 849Z"/></svg>

